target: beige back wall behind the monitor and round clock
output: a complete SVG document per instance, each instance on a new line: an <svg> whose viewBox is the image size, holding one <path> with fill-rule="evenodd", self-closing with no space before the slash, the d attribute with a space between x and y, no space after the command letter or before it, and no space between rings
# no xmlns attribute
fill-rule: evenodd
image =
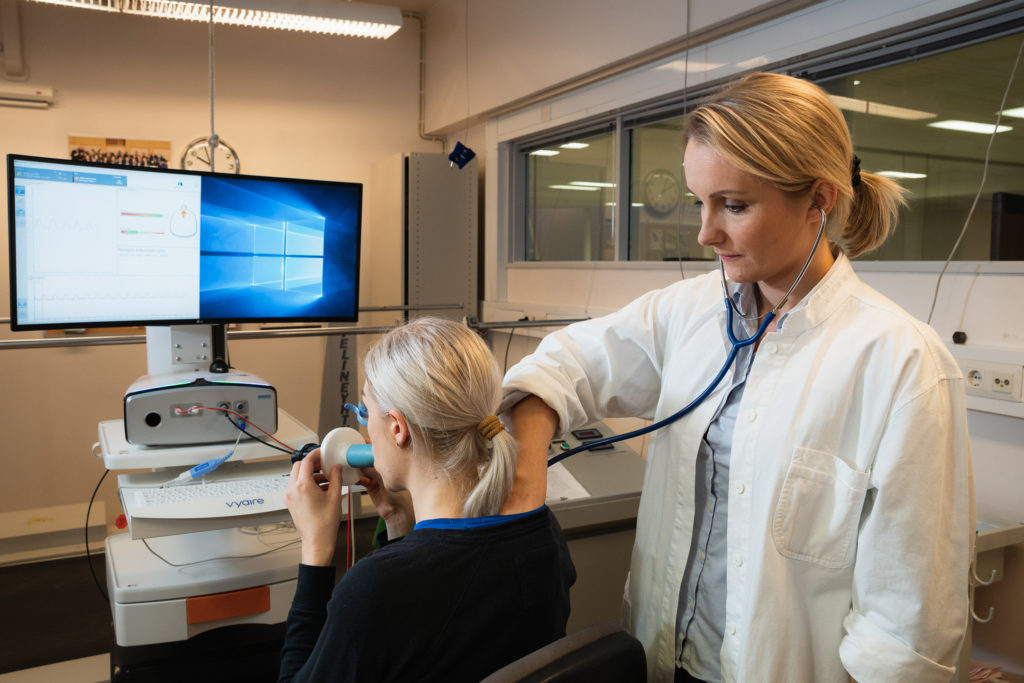
<svg viewBox="0 0 1024 683"><path fill-rule="evenodd" d="M0 152L67 158L69 135L110 136L169 140L173 161L209 134L206 25L18 4L29 82L56 88L57 102L0 106ZM386 41L218 27L215 54L217 132L246 173L366 182L369 194L376 160L439 151L418 135L416 22ZM364 255L373 225L366 211ZM6 310L7 241L0 245ZM373 292L374 273L364 275L361 292ZM0 328L0 337L37 336ZM324 345L233 342L231 360L273 384L282 408L315 429ZM120 417L124 389L144 372L142 345L0 350L0 512L87 501L103 471L89 456L96 423ZM113 477L100 498L113 521Z"/></svg>

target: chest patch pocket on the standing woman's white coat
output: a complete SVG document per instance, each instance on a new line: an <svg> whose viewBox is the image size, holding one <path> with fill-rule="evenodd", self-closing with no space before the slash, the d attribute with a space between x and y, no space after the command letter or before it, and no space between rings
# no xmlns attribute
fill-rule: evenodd
<svg viewBox="0 0 1024 683"><path fill-rule="evenodd" d="M867 484L866 472L840 458L797 449L772 520L778 552L830 568L853 564Z"/></svg>

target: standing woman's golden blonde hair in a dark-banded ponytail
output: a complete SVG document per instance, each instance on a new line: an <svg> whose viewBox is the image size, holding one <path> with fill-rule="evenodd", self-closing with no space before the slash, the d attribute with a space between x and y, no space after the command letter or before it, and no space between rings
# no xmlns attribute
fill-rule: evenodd
<svg viewBox="0 0 1024 683"><path fill-rule="evenodd" d="M697 106L684 135L784 191L830 182L839 195L828 237L850 257L882 246L906 204L903 187L859 170L850 129L828 95L792 76L743 77Z"/></svg>

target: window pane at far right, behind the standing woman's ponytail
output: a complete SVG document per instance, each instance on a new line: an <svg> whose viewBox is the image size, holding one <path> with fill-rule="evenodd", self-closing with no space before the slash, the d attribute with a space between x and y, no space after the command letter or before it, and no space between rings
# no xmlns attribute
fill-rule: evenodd
<svg viewBox="0 0 1024 683"><path fill-rule="evenodd" d="M1022 35L819 82L846 117L861 168L888 175L908 190L909 205L896 232L862 259L945 260L949 255L981 184ZM1024 259L1024 241L1017 238L1014 246L1011 227L1015 220L1020 226L1024 217L1021 81L1007 98L1009 114L999 122L985 187L956 260ZM993 213L993 197L1001 211Z"/></svg>

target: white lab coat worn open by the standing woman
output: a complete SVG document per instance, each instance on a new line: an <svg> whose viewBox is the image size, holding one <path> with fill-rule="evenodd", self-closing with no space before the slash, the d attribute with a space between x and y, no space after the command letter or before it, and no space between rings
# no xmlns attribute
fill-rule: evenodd
<svg viewBox="0 0 1024 683"><path fill-rule="evenodd" d="M719 273L547 337L505 390L563 431L665 418L729 349ZM651 437L624 616L671 681L694 463L728 376ZM964 379L937 335L840 254L754 357L732 443L725 681L948 681L968 624L974 485Z"/></svg>

